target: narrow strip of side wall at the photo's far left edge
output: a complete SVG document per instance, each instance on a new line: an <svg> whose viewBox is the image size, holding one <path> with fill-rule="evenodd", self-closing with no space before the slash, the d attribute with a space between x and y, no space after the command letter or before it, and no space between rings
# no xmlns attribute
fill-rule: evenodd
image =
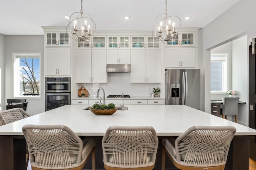
<svg viewBox="0 0 256 170"><path fill-rule="evenodd" d="M0 106L4 106L4 35L0 34Z"/></svg>

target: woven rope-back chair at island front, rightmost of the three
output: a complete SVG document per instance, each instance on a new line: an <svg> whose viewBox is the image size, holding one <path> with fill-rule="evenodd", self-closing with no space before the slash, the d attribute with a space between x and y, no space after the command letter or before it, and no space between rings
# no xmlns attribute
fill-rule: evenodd
<svg viewBox="0 0 256 170"><path fill-rule="evenodd" d="M182 133L174 145L163 139L162 170L165 154L182 170L224 170L235 133L232 126L194 126Z"/></svg>

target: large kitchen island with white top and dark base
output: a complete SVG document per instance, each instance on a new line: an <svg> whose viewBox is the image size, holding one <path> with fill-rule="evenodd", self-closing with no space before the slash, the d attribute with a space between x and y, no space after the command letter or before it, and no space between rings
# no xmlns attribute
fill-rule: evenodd
<svg viewBox="0 0 256 170"><path fill-rule="evenodd" d="M249 137L256 135L256 130L252 128L184 105L129 105L126 111L118 110L113 115L104 116L94 115L89 110L83 110L86 107L88 105L66 105L1 126L0 170L22 170L24 161L21 161L23 158L18 155L26 151L26 141L22 133L22 127L26 124L66 125L81 137L95 138L98 141L97 169L103 168L100 146L102 136L106 129L113 125L152 126L155 128L160 143L156 169L161 167L162 138L175 138L194 125L231 125L236 127L237 131L228 154L226 170L241 170L249 167ZM15 166L17 164L15 162L18 162L19 165Z"/></svg>

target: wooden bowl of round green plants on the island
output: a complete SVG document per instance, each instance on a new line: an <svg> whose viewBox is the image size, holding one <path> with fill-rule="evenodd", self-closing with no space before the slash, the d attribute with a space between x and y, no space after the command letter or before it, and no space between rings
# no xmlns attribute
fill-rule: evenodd
<svg viewBox="0 0 256 170"><path fill-rule="evenodd" d="M95 103L90 108L90 111L95 115L112 115L117 111L117 108L114 103L109 103L108 105L100 105L98 103Z"/></svg>

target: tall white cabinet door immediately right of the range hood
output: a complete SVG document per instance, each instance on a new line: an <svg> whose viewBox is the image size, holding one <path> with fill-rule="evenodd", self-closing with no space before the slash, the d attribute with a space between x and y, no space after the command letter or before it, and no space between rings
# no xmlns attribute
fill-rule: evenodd
<svg viewBox="0 0 256 170"><path fill-rule="evenodd" d="M131 50L131 83L146 83L146 50Z"/></svg>

